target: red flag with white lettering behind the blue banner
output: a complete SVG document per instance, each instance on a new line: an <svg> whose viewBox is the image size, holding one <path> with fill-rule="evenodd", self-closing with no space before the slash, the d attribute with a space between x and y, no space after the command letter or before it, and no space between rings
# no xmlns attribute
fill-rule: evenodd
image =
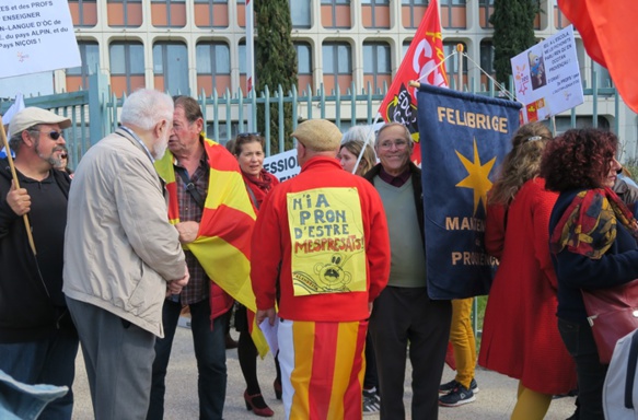
<svg viewBox="0 0 638 420"><path fill-rule="evenodd" d="M402 122L411 132L415 139L411 160L416 164L420 164L421 162L421 144L419 142L419 128L417 125L417 95L416 89L409 88L408 82L410 80L419 80L421 83L448 88L445 65L437 68L443 61L443 37L441 35L441 21L439 20L439 4L437 0L432 0L401 62L394 81L387 91L387 95L385 95L385 98L379 107L379 113L386 122ZM421 79L427 73L429 74Z"/></svg>

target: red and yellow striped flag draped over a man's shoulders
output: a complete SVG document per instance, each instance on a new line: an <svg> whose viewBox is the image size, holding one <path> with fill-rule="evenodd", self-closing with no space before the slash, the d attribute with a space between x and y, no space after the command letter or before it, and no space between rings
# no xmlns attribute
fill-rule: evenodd
<svg viewBox="0 0 638 420"><path fill-rule="evenodd" d="M251 285L251 235L256 213L237 161L221 144L202 139L210 165L208 194L197 238L183 246L195 255L206 275L224 292L256 312ZM155 161L155 168L166 183L169 220L176 224L179 222L179 207L173 162L173 154L166 151L161 160ZM264 357L268 345L262 330L251 328L251 336Z"/></svg>

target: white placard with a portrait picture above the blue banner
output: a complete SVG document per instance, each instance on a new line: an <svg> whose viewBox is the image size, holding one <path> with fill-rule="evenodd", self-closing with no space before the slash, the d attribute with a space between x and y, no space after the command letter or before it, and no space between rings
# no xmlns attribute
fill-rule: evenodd
<svg viewBox="0 0 638 420"><path fill-rule="evenodd" d="M511 59L517 100L525 122L543 120L583 103L573 26Z"/></svg>

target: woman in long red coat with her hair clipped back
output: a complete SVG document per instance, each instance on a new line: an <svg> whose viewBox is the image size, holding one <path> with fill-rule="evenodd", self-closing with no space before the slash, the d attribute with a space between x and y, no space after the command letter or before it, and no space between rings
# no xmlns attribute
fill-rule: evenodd
<svg viewBox="0 0 638 420"><path fill-rule="evenodd" d="M512 419L543 419L552 396L576 388L576 369L556 326L556 273L548 247L558 198L538 176L552 132L522 126L488 195L486 247L500 259L483 326L478 363L519 380Z"/></svg>

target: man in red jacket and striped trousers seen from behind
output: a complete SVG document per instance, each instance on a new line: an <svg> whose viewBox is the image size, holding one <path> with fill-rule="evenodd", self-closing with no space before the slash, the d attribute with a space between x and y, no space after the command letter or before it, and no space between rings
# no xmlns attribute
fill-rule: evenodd
<svg viewBox="0 0 638 420"><path fill-rule="evenodd" d="M390 273L385 213L336 160L333 122L304 121L292 137L301 173L266 196L253 233L257 322L277 323L287 418L361 419L368 317Z"/></svg>

